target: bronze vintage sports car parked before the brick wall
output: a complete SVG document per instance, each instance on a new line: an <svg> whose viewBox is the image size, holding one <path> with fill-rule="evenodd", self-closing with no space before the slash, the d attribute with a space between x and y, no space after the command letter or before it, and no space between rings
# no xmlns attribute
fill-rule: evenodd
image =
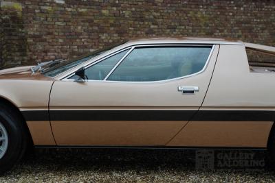
<svg viewBox="0 0 275 183"><path fill-rule="evenodd" d="M251 51L275 58L275 47L241 41L152 38L2 70L0 171L30 143L260 148L275 157L275 69Z"/></svg>

